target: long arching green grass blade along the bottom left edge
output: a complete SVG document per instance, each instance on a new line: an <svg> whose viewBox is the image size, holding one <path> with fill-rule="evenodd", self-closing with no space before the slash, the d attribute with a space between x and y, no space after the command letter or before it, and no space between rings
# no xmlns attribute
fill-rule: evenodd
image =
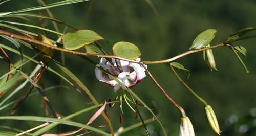
<svg viewBox="0 0 256 136"><path fill-rule="evenodd" d="M85 129L92 130L94 132L97 132L97 133L103 134L103 135L110 135L100 129L97 129L97 128L94 128L94 127L91 127L88 125L84 125L84 124L81 124L78 122L73 122L73 121L60 120L60 119L56 119L56 118L47 118L47 117L40 117L40 116L1 116L0 120L25 120L25 121L55 122L55 123L85 128Z"/></svg>

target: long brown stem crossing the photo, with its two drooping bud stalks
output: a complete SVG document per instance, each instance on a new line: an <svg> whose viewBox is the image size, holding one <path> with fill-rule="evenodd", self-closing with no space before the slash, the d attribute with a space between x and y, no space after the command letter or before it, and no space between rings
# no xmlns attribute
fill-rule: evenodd
<svg viewBox="0 0 256 136"><path fill-rule="evenodd" d="M144 64L160 64L160 63L170 63L176 59L179 59L181 57L187 56L189 54L193 54L193 53L197 53L197 52L201 52L201 51L205 51L208 49L214 49L214 48L219 48L219 47L225 47L228 46L230 47L231 42L235 42L235 41L239 41L239 40L243 40L243 39L249 39L249 38L255 38L256 36L245 36L245 37L241 37L235 40L231 40L227 43L220 43L217 44L215 46L211 46L211 47L206 47L206 48L202 48L202 49L198 49L198 50L190 50L190 51L186 51L184 53L181 53L175 57L172 58L168 58L168 59L164 59L164 60L157 60L157 61L136 61L136 60L131 60L131 59L126 59L126 58L122 58L122 57L118 57L115 55L96 55L96 54L90 54L90 53L86 53L86 52L78 52L78 51L71 51L71 50L67 50L64 48L60 48L60 47L54 47L51 44L45 43L45 42L41 42L39 40L36 39L32 39L32 38L28 38L22 35L17 35L14 33L10 33L4 30L0 30L0 34L4 34L7 36L10 36L12 38L16 38L16 39L21 39L21 40L25 40L25 41L29 41L35 44L40 44L41 46L45 46L48 48L52 48L58 51L62 51L62 52L66 52L66 53L72 53L72 54L76 54L76 55L82 55L82 56L93 56L93 57L103 57L103 58L114 58L114 59L120 59L120 60L124 60L124 61L129 61L129 62L133 62L133 63L138 63L140 65L142 65L144 67L144 69L146 70L147 74L151 77L151 79L153 80L153 82L157 85L157 87L161 90L161 92L167 97L167 99L176 107L180 110L181 114L183 117L186 116L185 111L183 110L183 108L181 106L179 106L167 93L166 91L160 86L160 84L156 81L156 79L153 77L153 75L150 73L150 71L148 71L145 67ZM233 49L231 47L231 49ZM236 53L236 52L235 52ZM194 95L196 96L204 105L207 105L207 103L201 99L195 92L193 92L193 90L191 90L191 88L189 88L189 86L178 76L178 74L174 71L172 65L169 64L169 66L172 68L174 74L178 77L178 79L183 83L183 85L186 86L186 88L188 88L188 90Z"/></svg>

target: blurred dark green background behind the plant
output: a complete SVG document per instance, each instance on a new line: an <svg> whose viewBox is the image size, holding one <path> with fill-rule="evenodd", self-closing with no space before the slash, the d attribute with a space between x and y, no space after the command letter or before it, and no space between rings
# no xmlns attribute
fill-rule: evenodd
<svg viewBox="0 0 256 136"><path fill-rule="evenodd" d="M53 2L56 1L46 1L46 3ZM183 53L190 47L194 38L200 32L209 28L218 30L216 38L211 42L212 45L215 45L224 42L230 34L235 33L237 30L245 27L254 27L256 23L256 1L252 0L152 0L152 2L158 11L158 15L154 14L151 7L143 0L95 0L60 6L52 8L51 11L56 19L79 29L94 30L105 37L109 43L105 41L100 43L109 50L118 41L128 41L136 44L142 52L142 60L161 60ZM37 5L37 1L12 0L1 5L0 12L14 11ZM90 6L91 10L88 12ZM46 12L45 14L47 15ZM8 20L8 18L5 19ZM21 21L20 19L12 20ZM33 21L38 24L37 19L33 19ZM47 27L53 29L51 21L47 21ZM63 30L62 25L59 25L59 27ZM22 28L35 33L38 32L35 29ZM68 31L71 32L72 30L69 29ZM54 34L48 33L48 37L56 39ZM0 41L14 47L3 39L0 39ZM227 47L213 50L218 72L210 72L203 61L202 53L191 54L177 60L177 62L182 63L191 71L188 85L214 108L223 131L222 135L256 135L255 42L256 39L248 39L234 43L237 46L244 46L248 51L246 59L242 55L241 57L248 66L249 74L245 73L238 59ZM23 50L30 56L36 53L26 47ZM19 56L11 52L8 52L8 54L10 54L9 56L13 62L19 60ZM56 53L54 57L60 60L60 53ZM98 59L96 60L99 61ZM34 66L32 63L28 64L24 67L24 71L29 73ZM52 64L50 63L49 66L52 66ZM113 92L113 88L96 79L94 74L95 67L90 63L75 55L66 54L66 66L87 85L99 102L115 98L116 94ZM7 72L6 63L0 62L0 68L1 75ZM185 109L187 116L189 116L194 125L196 135L215 135L205 120L204 106L177 80L167 65L148 65L148 70L152 72L168 94ZM179 71L179 74L185 79L182 71ZM58 77L46 71L42 76L41 83L47 88L59 85L60 82ZM67 85L66 83L62 84ZM81 95L71 86L67 86L69 89L53 89L47 92L47 96L59 114L67 116L92 105L87 96ZM12 100L16 100L28 88L29 85ZM180 113L160 93L160 90L149 77L141 81L132 90L159 116L169 135L178 135ZM37 92L37 90L34 89L33 92ZM139 107L139 109L144 119L152 117L143 107ZM8 109L0 111L1 115L8 115L9 112L7 111ZM93 112L95 111L83 114L83 116L79 116L74 120L85 123ZM139 119L134 119L134 113L127 106L124 107L122 124L119 124L119 114L118 104L109 111L110 120L115 130L121 126L126 127L139 122ZM15 115L45 116L41 97L36 95L26 99L17 108ZM103 124L105 122L100 117L92 125L99 126ZM36 123L4 121L1 125L27 130L34 127ZM161 128L156 122L148 124L147 127L151 135L162 135ZM61 125L61 129L64 131L74 130L74 128L65 125ZM106 130L106 128L103 129ZM56 129L53 129L52 132L56 132ZM95 135L95 133L91 133L91 135ZM145 132L143 127L139 127L123 135L145 135Z"/></svg>

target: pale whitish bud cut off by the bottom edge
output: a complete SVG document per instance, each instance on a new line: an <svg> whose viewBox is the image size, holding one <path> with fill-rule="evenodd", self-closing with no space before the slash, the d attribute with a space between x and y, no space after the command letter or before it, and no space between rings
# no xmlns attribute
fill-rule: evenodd
<svg viewBox="0 0 256 136"><path fill-rule="evenodd" d="M180 136L195 136L193 125L187 116L181 118Z"/></svg>

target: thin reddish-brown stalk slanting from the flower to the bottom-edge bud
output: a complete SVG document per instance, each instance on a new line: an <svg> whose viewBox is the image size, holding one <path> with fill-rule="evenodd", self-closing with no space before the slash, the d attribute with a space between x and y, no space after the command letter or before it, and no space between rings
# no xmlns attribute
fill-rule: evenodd
<svg viewBox="0 0 256 136"><path fill-rule="evenodd" d="M142 65L145 69L145 71L147 72L147 74L151 77L152 81L157 85L157 87L162 91L162 93L164 94L165 97L167 97L167 99L176 107L180 110L181 114L182 114L182 117L185 117L186 116L186 113L184 111L184 109L178 105L173 99L172 97L170 97L166 91L161 87L161 85L156 81L156 79L152 76L152 74L150 73L150 71L147 70L146 66L141 63L140 65Z"/></svg>

